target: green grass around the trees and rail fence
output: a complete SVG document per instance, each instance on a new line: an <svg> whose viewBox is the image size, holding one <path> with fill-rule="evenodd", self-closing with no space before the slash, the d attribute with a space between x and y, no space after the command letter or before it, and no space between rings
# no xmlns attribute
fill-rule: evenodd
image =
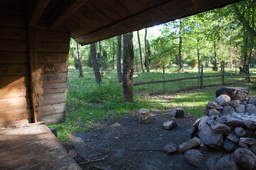
<svg viewBox="0 0 256 170"><path fill-rule="evenodd" d="M226 73L234 71L226 69ZM166 79L197 76L197 69L185 67L184 72L177 72L177 67L166 69ZM220 69L219 69L220 70ZM251 69L252 70L252 69ZM251 76L255 77L255 72ZM117 83L116 71L107 69L102 85L96 85L92 68L83 68L84 77L79 76L79 70L69 68L67 82L67 106L66 122L61 125L66 133L71 135L78 131L87 131L98 125L104 119L125 119L131 113L140 108L148 108L151 111L162 109L163 111L183 108L186 113L202 116L207 102L213 101L215 91L221 86L211 86L203 89L194 89L188 92L166 93L159 96L150 96L149 92L163 91L163 83L140 85L134 87L133 103L121 103L122 83ZM220 74L219 71L212 72L211 68L204 68L204 75ZM134 77L134 82L151 81L162 79L162 71L151 71L150 73L134 73L140 77ZM242 80L242 75L225 77L225 83L239 81L235 86L250 89L249 96L256 96L256 86ZM253 80L253 79L252 79ZM197 85L197 79L183 80L178 82L167 82L166 91L177 90ZM255 81L255 79L254 79ZM220 77L205 78L204 85L219 84Z"/></svg>

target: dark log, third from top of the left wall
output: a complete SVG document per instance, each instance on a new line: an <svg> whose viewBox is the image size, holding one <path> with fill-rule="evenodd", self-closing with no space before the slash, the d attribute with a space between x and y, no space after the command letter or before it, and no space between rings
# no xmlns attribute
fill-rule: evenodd
<svg viewBox="0 0 256 170"><path fill-rule="evenodd" d="M25 40L0 39L0 51L27 51Z"/></svg>

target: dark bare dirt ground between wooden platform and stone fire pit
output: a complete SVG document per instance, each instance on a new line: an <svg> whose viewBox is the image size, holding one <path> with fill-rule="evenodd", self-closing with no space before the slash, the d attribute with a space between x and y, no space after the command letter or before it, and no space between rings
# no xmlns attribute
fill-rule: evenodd
<svg viewBox="0 0 256 170"><path fill-rule="evenodd" d="M105 167L104 170L204 170L204 164L195 168L187 163L183 153L166 155L162 151L167 143L179 145L188 141L196 119L189 115L184 119L175 119L170 112L161 111L151 113L148 124L140 124L136 113L126 119L105 119L100 126L87 133L74 134L72 143L68 144L68 151L76 150L74 159L77 163L105 158L81 165L83 170L92 170L93 165ZM168 120L175 120L177 127L163 129L163 123ZM114 123L120 126L111 126ZM204 153L205 161L211 156L221 158L225 154L201 152Z"/></svg>

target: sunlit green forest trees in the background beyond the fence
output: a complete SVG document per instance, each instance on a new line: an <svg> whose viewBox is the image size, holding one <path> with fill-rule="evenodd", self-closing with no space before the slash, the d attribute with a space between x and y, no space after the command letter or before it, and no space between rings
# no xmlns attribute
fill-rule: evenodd
<svg viewBox="0 0 256 170"><path fill-rule="evenodd" d="M183 71L183 65L194 68L201 64L212 65L212 70L217 71L223 61L234 70L244 64L254 67L255 16L256 2L247 0L134 31L134 71L149 72L149 68L158 70L162 65L167 68L178 65L178 71ZM113 37L96 43L96 63L100 70L116 68L117 39ZM71 39L69 65L76 63L76 68L77 54L77 44ZM81 47L81 65L93 66L90 45Z"/></svg>

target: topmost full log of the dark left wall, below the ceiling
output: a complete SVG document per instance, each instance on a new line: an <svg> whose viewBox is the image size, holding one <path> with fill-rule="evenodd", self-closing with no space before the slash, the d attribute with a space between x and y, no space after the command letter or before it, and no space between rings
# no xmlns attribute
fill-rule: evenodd
<svg viewBox="0 0 256 170"><path fill-rule="evenodd" d="M25 16L0 14L0 26L26 27Z"/></svg>

